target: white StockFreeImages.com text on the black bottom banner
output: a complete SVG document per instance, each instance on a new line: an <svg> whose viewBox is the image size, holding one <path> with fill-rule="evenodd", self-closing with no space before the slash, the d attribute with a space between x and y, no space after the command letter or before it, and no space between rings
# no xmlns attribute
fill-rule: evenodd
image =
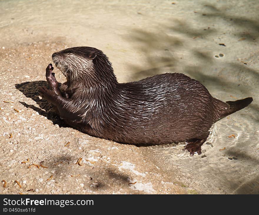
<svg viewBox="0 0 259 215"><path fill-rule="evenodd" d="M4 199L4 206L21 206L21 205L58 205L60 207L64 207L66 205L94 205L93 200L49 200L49 199L18 199L18 200L11 200L11 199Z"/></svg>

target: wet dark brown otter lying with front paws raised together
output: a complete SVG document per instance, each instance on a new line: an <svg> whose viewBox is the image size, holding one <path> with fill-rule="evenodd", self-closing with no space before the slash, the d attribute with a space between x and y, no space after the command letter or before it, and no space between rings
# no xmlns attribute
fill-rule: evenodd
<svg viewBox="0 0 259 215"><path fill-rule="evenodd" d="M67 81L57 82L52 64L46 68L50 89L39 87L57 114L88 135L134 145L187 142L201 154L212 124L252 101L220 101L205 86L181 73L165 73L118 83L112 64L92 47L73 47L52 54Z"/></svg>

